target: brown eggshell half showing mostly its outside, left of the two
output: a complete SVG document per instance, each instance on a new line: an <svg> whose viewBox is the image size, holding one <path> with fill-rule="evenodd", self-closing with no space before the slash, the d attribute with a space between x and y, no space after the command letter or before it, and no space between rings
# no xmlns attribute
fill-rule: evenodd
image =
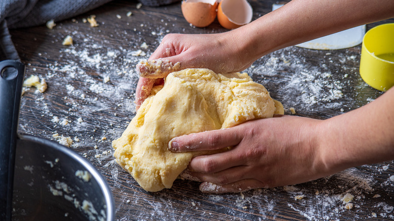
<svg viewBox="0 0 394 221"><path fill-rule="evenodd" d="M199 28L207 27L215 20L217 8L216 0L185 0L181 5L186 21Z"/></svg>

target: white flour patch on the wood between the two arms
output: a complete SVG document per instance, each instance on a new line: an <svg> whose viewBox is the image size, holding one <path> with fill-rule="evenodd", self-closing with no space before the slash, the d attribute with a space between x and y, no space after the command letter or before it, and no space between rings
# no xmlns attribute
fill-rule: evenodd
<svg viewBox="0 0 394 221"><path fill-rule="evenodd" d="M358 75L358 70L343 68L347 73L342 73L330 71L332 67L325 64L311 66L297 51L297 47L288 47L270 53L255 62L247 72L263 75L264 80L258 82L270 91L280 87L273 97L284 102L287 109L295 107L299 112L319 113L327 109L339 110L355 102L353 97L344 96L342 89L349 82L348 76ZM342 63L351 60L346 52L341 59ZM285 83L276 86L275 78L281 78Z"/></svg>

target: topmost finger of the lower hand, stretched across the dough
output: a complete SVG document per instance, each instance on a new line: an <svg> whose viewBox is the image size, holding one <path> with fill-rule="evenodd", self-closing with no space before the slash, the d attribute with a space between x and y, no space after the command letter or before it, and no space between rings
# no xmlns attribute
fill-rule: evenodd
<svg viewBox="0 0 394 221"><path fill-rule="evenodd" d="M175 137L168 143L168 148L173 152L188 152L235 146L242 140L242 136L236 133L236 130L228 128Z"/></svg>

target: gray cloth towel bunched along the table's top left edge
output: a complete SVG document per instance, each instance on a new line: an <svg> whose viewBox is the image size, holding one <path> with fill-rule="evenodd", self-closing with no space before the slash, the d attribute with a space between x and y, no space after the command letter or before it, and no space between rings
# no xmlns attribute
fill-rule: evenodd
<svg viewBox="0 0 394 221"><path fill-rule="evenodd" d="M112 0L0 0L0 61L20 60L8 28L55 22L90 11ZM166 5L180 0L140 0L146 6Z"/></svg>

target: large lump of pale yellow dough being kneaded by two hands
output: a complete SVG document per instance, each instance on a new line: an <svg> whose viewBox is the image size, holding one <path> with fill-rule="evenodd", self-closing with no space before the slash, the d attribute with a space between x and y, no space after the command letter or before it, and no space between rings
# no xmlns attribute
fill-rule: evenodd
<svg viewBox="0 0 394 221"><path fill-rule="evenodd" d="M247 73L173 72L164 86L153 88L122 136L113 141L114 156L144 190L160 191L171 188L193 156L208 154L173 153L168 150L172 138L274 114L283 114L282 104Z"/></svg>

